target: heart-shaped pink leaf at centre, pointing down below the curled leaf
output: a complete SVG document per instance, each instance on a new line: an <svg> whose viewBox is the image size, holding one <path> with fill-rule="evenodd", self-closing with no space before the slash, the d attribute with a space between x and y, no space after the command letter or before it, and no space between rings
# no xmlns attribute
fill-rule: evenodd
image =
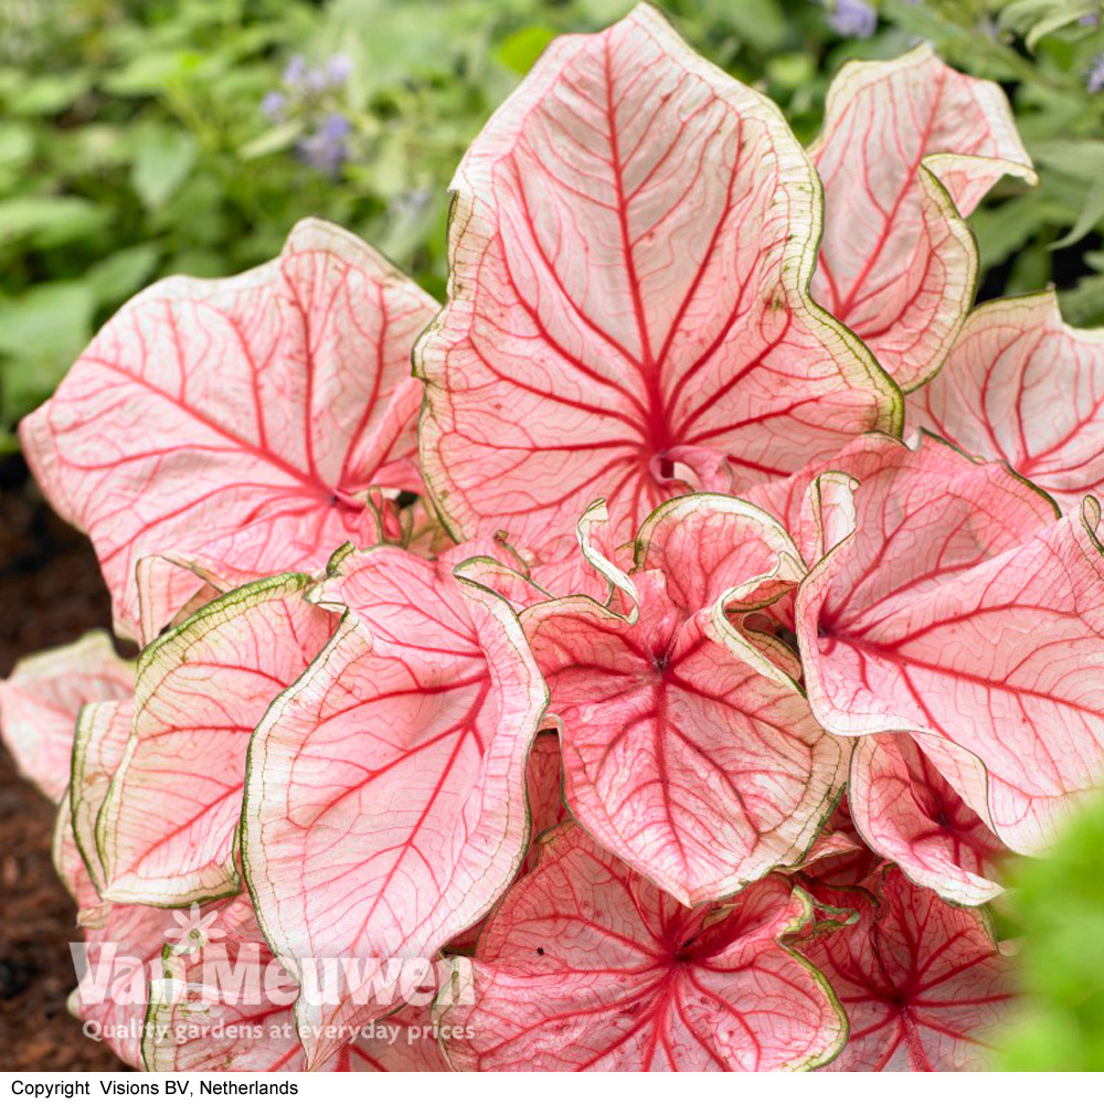
<svg viewBox="0 0 1104 1104"><path fill-rule="evenodd" d="M561 723L569 807L606 848L699 903L800 856L846 756L788 679L711 635L709 612L687 619L661 575L635 578L636 624L588 598L534 606L523 623Z"/></svg>

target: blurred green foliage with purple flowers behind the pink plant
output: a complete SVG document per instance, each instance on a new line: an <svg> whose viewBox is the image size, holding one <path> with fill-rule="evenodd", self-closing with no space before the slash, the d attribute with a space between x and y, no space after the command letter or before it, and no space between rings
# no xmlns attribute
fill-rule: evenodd
<svg viewBox="0 0 1104 1104"><path fill-rule="evenodd" d="M434 294L464 148L548 42L627 0L4 0L0 449L151 279L256 264L323 215ZM659 0L808 140L831 75L920 39L1008 88L1042 185L974 219L983 293L1104 322L1100 0Z"/></svg>

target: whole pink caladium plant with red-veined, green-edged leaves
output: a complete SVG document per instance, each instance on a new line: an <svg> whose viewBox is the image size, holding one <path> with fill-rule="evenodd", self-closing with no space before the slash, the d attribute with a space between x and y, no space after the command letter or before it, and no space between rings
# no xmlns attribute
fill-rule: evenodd
<svg viewBox="0 0 1104 1104"><path fill-rule="evenodd" d="M74 1012L151 1070L984 1065L1001 859L1104 784L1104 343L969 312L1006 173L926 49L805 151L644 6L464 158L439 312L316 221L125 307L22 443L142 650L0 684Z"/></svg>

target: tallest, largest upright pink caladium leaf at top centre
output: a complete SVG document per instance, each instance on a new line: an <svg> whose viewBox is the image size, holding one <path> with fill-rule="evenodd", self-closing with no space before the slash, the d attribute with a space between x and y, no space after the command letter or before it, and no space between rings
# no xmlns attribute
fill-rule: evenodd
<svg viewBox="0 0 1104 1104"><path fill-rule="evenodd" d="M602 495L622 540L679 489L895 431L900 393L808 295L808 158L654 9L553 43L453 189L449 302L415 363L456 534L539 548Z"/></svg>

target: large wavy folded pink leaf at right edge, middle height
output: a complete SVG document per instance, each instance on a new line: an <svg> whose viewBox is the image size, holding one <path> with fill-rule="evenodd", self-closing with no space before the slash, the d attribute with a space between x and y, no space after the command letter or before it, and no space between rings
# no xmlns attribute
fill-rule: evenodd
<svg viewBox="0 0 1104 1104"><path fill-rule="evenodd" d="M1104 782L1100 508L1054 521L1005 466L937 438L888 444L884 461L856 532L798 591L813 711L843 736L912 732L1006 846L1033 852Z"/></svg>

